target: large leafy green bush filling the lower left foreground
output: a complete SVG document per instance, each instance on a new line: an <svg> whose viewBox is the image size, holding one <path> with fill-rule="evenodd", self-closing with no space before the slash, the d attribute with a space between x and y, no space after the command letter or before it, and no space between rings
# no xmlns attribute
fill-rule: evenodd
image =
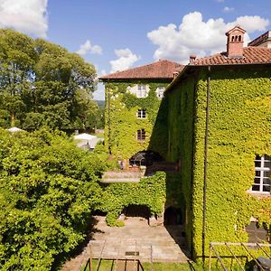
<svg viewBox="0 0 271 271"><path fill-rule="evenodd" d="M0 269L50 270L83 239L102 163L66 135L0 129Z"/></svg>

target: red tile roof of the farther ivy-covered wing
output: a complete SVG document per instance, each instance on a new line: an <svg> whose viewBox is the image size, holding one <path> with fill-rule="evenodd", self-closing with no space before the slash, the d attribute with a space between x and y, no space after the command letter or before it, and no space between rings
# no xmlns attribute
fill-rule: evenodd
<svg viewBox="0 0 271 271"><path fill-rule="evenodd" d="M180 72L183 65L173 61L156 61L137 68L117 71L99 79L173 79L174 72Z"/></svg>

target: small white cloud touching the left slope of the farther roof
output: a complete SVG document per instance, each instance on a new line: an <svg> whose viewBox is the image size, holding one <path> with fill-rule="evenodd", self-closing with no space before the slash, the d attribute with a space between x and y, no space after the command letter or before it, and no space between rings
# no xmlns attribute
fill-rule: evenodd
<svg viewBox="0 0 271 271"><path fill-rule="evenodd" d="M118 59L116 61L110 61L110 72L129 69L135 64L136 61L141 59L140 56L137 56L128 48L115 50L115 54L117 55Z"/></svg>

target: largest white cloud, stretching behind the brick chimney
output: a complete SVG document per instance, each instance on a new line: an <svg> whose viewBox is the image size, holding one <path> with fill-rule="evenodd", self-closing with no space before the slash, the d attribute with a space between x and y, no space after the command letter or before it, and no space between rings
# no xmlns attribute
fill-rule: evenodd
<svg viewBox="0 0 271 271"><path fill-rule="evenodd" d="M158 46L154 51L155 60L165 58L187 63L190 54L202 57L225 51L225 33L237 24L247 31L245 42L248 42L248 33L266 30L269 21L259 16L242 16L231 23L225 23L222 18L204 22L201 13L193 12L183 16L179 27L173 23L160 26L147 33L147 37Z"/></svg>

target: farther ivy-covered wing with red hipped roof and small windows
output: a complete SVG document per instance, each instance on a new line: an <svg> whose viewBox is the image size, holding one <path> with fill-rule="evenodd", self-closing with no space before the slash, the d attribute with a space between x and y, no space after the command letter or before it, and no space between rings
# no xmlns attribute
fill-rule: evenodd
<svg viewBox="0 0 271 271"><path fill-rule="evenodd" d="M140 151L166 154L167 107L161 102L164 89L183 67L161 60L100 78L106 89L105 144L125 166ZM164 114L157 117L159 108Z"/></svg>

